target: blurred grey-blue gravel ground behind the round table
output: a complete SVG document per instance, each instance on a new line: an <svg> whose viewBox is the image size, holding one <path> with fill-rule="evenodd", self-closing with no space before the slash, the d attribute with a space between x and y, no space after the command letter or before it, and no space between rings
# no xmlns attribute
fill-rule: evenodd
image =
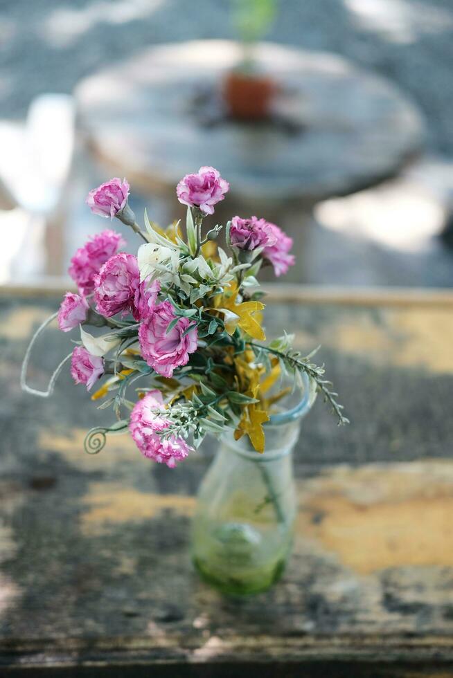
<svg viewBox="0 0 453 678"><path fill-rule="evenodd" d="M452 0L281 0L269 39L349 57L423 109L429 147L453 154ZM229 0L0 0L0 115L145 46L232 37Z"/></svg>

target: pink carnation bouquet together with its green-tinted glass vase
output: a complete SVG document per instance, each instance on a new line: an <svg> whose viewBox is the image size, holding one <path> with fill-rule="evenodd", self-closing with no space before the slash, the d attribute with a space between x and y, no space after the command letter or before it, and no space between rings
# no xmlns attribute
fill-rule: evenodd
<svg viewBox="0 0 453 678"><path fill-rule="evenodd" d="M313 354L301 356L287 333L265 343L258 273L273 266L283 275L294 264L292 239L257 217L205 228L228 190L213 167L179 182L185 234L179 223L162 230L146 212L141 230L125 180L91 191L91 210L120 219L142 243L136 256L122 252L121 235L105 230L77 250L69 273L78 293L66 293L39 327L21 385L50 396L71 360L75 383L88 391L98 386L91 399L100 409L112 407L116 421L87 433L90 454L103 449L108 434L130 432L142 455L173 468L206 434L219 437L220 452L199 492L192 556L211 584L249 594L272 585L290 553L296 501L289 452L315 392L339 424L348 420ZM222 230L227 251L216 242ZM64 332L80 327L80 341L47 390L37 391L26 383L30 351L55 318Z"/></svg>

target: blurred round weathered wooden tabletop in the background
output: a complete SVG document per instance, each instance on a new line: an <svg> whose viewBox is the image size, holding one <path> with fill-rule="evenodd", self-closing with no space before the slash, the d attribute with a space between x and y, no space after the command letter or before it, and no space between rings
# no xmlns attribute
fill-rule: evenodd
<svg viewBox="0 0 453 678"><path fill-rule="evenodd" d="M239 59L225 40L170 44L83 80L80 123L96 155L135 190L172 196L181 176L214 165L230 205L259 204L270 219L276 204L310 208L389 178L420 147L420 116L390 82L336 55L269 43L256 59L279 84L273 122L228 120L222 76Z"/></svg>

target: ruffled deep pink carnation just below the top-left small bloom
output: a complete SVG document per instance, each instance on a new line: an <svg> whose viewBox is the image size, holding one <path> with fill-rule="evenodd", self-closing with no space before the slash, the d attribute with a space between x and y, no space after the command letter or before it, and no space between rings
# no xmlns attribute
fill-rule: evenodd
<svg viewBox="0 0 453 678"><path fill-rule="evenodd" d="M125 241L119 233L104 230L77 250L71 259L69 275L77 283L82 296L93 291L94 277L99 273L100 267L124 245Z"/></svg>

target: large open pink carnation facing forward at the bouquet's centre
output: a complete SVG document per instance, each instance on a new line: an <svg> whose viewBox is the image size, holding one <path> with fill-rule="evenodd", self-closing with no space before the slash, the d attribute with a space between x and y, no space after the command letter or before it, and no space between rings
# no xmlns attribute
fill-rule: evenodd
<svg viewBox="0 0 453 678"><path fill-rule="evenodd" d="M197 325L190 318L179 318L168 332L168 325L175 320L170 302L155 307L150 317L139 327L139 342L143 358L158 374L170 377L175 367L188 363L188 354L197 350ZM192 325L191 329L184 332Z"/></svg>

